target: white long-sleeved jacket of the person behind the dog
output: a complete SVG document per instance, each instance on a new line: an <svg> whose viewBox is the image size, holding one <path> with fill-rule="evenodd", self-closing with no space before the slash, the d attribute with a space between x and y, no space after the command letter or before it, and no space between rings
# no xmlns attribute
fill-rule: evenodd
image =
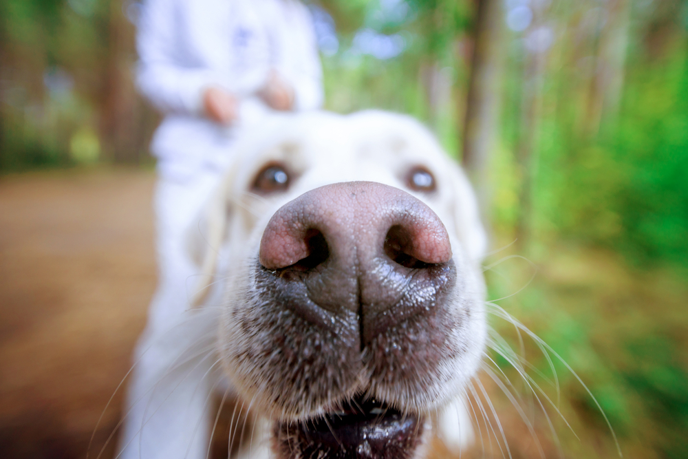
<svg viewBox="0 0 688 459"><path fill-rule="evenodd" d="M255 93L271 69L294 88L294 109L323 101L312 20L297 0L147 0L137 44L138 87L165 114L151 151L166 178L228 164L234 131L266 109ZM204 118L210 85L242 98L233 127Z"/></svg>

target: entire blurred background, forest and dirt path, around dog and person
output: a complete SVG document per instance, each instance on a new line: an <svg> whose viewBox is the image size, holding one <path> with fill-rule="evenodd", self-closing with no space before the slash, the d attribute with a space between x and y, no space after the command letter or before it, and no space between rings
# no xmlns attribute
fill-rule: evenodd
<svg viewBox="0 0 688 459"><path fill-rule="evenodd" d="M308 6L325 107L420 118L478 191L496 350L462 457L687 458L688 3ZM0 2L3 458L112 453L155 284L139 10Z"/></svg>

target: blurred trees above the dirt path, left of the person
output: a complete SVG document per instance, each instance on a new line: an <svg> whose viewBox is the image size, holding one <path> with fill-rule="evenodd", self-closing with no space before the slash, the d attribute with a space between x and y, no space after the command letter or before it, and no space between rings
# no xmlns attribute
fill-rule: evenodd
<svg viewBox="0 0 688 459"><path fill-rule="evenodd" d="M136 6L0 3L0 170L145 155L155 116L132 84Z"/></svg>

